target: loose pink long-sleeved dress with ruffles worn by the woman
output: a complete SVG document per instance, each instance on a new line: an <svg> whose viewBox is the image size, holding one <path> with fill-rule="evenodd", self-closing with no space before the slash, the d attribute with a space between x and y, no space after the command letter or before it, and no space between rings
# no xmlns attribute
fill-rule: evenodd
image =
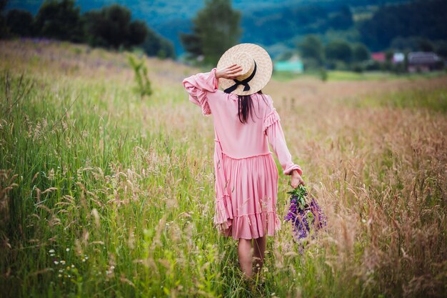
<svg viewBox="0 0 447 298"><path fill-rule="evenodd" d="M216 69L183 81L189 101L213 115L216 204L214 224L233 239L274 236L281 229L276 214L278 169L268 142L283 169L290 175L301 168L288 152L279 115L266 94L253 94L253 119L238 119L238 96L219 90ZM264 101L265 99L265 101Z"/></svg>

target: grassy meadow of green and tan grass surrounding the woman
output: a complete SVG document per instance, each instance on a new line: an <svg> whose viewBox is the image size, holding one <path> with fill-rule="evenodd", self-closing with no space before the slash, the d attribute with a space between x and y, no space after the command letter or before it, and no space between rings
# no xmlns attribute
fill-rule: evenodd
<svg viewBox="0 0 447 298"><path fill-rule="evenodd" d="M328 227L301 254L282 222L251 289L181 85L206 70L146 65L141 98L126 53L0 41L2 297L444 297L447 76L268 84Z"/></svg>

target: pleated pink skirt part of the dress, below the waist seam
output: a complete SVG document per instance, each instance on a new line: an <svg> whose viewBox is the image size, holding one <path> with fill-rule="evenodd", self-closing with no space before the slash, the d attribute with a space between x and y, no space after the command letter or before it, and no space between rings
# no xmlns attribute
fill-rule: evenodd
<svg viewBox="0 0 447 298"><path fill-rule="evenodd" d="M274 236L281 229L276 214L278 169L271 153L233 159L223 154L233 219L225 233L233 239Z"/></svg>

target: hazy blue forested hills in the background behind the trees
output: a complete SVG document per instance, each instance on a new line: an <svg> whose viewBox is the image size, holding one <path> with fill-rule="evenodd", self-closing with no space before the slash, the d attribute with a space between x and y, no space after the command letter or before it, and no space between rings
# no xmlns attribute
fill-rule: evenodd
<svg viewBox="0 0 447 298"><path fill-rule="evenodd" d="M334 39L361 42L370 51L418 50L421 39L430 41L433 50L443 52L446 49L447 25L443 16L447 15L447 4L443 0L231 2L233 8L241 12L240 41L262 44L273 57L295 50L296 44L308 34L316 34L325 44ZM20 9L36 15L42 3L10 0L6 11ZM108 4L106 0L76 1L81 14L97 11ZM146 22L149 36L157 40L156 45L169 52L171 42L177 56L181 56L185 49L180 35L191 32L192 19L204 8L205 1L190 1L184 5L180 0L161 0L148 5L145 1L125 0L120 4L131 11L133 18ZM150 52L153 54L154 50Z"/></svg>

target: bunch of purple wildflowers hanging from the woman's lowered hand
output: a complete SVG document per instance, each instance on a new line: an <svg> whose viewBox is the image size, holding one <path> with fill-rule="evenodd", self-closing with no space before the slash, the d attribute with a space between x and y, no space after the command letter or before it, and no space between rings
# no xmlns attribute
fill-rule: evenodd
<svg viewBox="0 0 447 298"><path fill-rule="evenodd" d="M310 198L306 187L298 185L296 189L287 192L290 194L290 207L284 219L293 224L294 240L300 244L300 252L304 247L303 239L313 231L326 226L326 216L321 212L316 200Z"/></svg>

